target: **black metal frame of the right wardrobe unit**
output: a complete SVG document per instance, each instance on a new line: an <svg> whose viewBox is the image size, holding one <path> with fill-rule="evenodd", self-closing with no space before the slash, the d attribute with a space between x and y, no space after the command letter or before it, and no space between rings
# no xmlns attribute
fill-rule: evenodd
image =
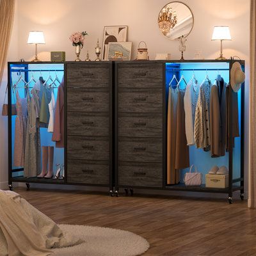
<svg viewBox="0 0 256 256"><path fill-rule="evenodd" d="M136 62L138 61L116 61L115 63L115 190L118 192L119 188L138 188L138 189L159 189L159 190L170 190L170 191L193 191L193 192L207 192L207 193L225 193L228 194L228 200L232 203L232 195L234 191L241 191L241 198L243 198L244 193L244 83L241 86L241 171L240 178L233 179L233 140L232 136L229 138L228 143L228 188L205 188L205 186L183 186L180 184L177 185L167 185L166 184L166 63L229 63L229 80L230 80L230 70L232 64L236 60L173 60L173 61L150 61L150 63L163 63L163 188L156 188L152 186L132 186L132 185L119 185L118 184L118 64L124 62ZM147 62L148 61L140 61ZM244 70L244 61L240 60L242 68ZM174 68L175 69L175 68ZM195 70L228 70L226 68L205 68L205 69L196 69ZM181 68L181 70L188 70L186 68ZM193 69L189 69L193 70ZM231 90L232 91L232 90ZM230 93L230 106L232 106L232 100L234 97L234 92ZM229 108L229 134L232 134L232 108ZM234 186L235 183L241 182L240 186Z"/></svg>

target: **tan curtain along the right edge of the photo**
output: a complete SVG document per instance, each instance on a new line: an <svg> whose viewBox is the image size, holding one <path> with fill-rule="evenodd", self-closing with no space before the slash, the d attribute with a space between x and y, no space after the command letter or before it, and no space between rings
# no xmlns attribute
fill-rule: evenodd
<svg viewBox="0 0 256 256"><path fill-rule="evenodd" d="M256 207L256 1L250 14L250 185L248 207Z"/></svg>

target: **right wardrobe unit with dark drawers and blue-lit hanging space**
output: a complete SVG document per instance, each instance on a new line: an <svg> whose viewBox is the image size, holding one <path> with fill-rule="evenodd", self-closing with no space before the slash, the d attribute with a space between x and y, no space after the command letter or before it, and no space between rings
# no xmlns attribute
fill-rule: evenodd
<svg viewBox="0 0 256 256"><path fill-rule="evenodd" d="M177 80L183 75L187 83L193 75L198 84L209 77L211 83L218 75L230 81L230 69L234 60L191 61L119 61L115 63L115 189L124 188L133 193L134 188L164 189L170 191L198 191L227 193L232 202L234 191L244 193L244 84L235 95L229 93L228 113L232 116L232 102L238 97L239 134L228 139L225 156L211 157L211 152L189 146L189 163L195 164L205 176L212 166L227 166L228 188L185 186L184 173L189 169L176 170L179 179L168 180L167 159L167 113L169 83L173 75ZM240 61L244 69L244 61ZM175 83L173 83L175 84ZM186 84L180 83L180 89ZM178 113L178 115L181 115ZM186 113L185 113L186 115ZM177 119L176 119L177 120ZM176 125L176 120L172 120ZM228 134L232 132L232 118L228 118ZM171 129L171 136L172 136ZM176 135L174 136L176 138ZM184 138L184 136L182 137ZM180 160L186 152L179 150ZM170 153L169 153L170 154ZM172 153L173 154L173 153ZM182 155L184 154L184 156ZM172 163L171 163L172 164ZM188 167L188 166L186 166ZM173 183L173 184L170 184ZM174 184L176 183L176 184Z"/></svg>

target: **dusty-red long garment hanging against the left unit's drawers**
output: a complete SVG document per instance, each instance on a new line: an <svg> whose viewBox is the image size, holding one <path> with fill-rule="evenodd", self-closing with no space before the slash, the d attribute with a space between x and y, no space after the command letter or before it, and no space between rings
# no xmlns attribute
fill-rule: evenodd
<svg viewBox="0 0 256 256"><path fill-rule="evenodd" d="M56 141L56 148L64 147L64 77L58 87L52 141Z"/></svg>

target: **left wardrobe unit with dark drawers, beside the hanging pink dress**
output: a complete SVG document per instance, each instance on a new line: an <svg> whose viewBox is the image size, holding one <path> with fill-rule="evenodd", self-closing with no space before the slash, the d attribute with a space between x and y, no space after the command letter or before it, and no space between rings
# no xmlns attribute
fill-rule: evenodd
<svg viewBox="0 0 256 256"><path fill-rule="evenodd" d="M100 63L77 63L74 61L8 63L8 180L10 189L13 188L12 182L26 182L28 189L30 183L45 183L106 186L112 191L112 66L113 64L109 61ZM60 145L60 141L56 142L55 145L55 141L52 141L52 133L48 132L47 128L40 126L40 144L38 148L42 152L43 146L54 147L54 175L57 169L56 164L63 164L63 170L65 170L63 179L38 179L36 177L43 168L42 153L40 153L35 175L33 173L27 175L28 172L23 161L19 164L20 166L15 163L17 158L15 143L20 134L17 134L17 129L15 129L17 116L11 114L11 108L12 104L17 102L16 91L19 92L21 98L28 98L28 91L31 92L35 82L40 77L47 80L49 75L52 79L58 76L60 81L63 77L64 104L62 111L64 127L62 128L63 131L60 131L61 134L55 134L63 139L63 145ZM31 81L31 83L24 86L25 83L20 82L13 93L13 84L20 77L26 82ZM49 83L51 83L51 80L46 84ZM57 105L59 86L60 84L56 82L51 89ZM27 113L24 115L27 116ZM60 138L57 138L57 140ZM24 140L26 139L24 138ZM24 140L22 138L22 141ZM19 154L22 159L26 158L26 152L28 152L25 145L26 142L22 145L22 154L25 154L25 156Z"/></svg>

